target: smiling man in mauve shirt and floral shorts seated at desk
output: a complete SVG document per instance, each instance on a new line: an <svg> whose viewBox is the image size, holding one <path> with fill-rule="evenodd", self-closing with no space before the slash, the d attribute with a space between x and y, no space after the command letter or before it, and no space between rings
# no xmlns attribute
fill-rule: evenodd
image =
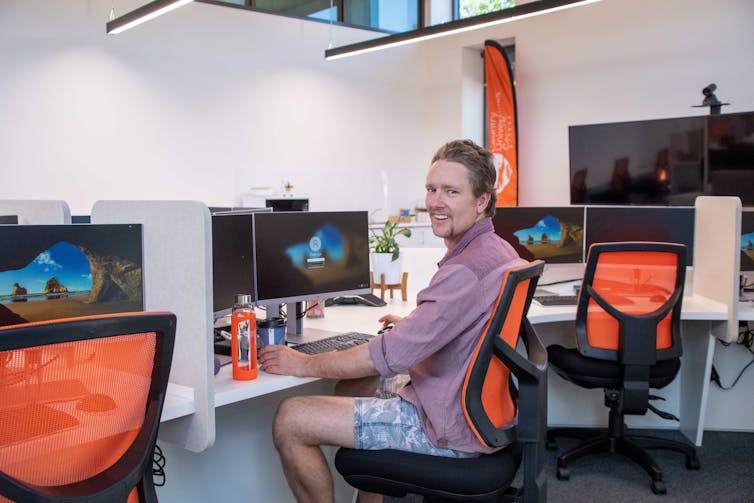
<svg viewBox="0 0 754 503"><path fill-rule="evenodd" d="M260 352L261 368L275 374L381 377L379 398L299 396L281 403L273 438L299 502L333 500L321 445L449 457L490 452L466 423L461 388L503 275L524 260L494 233L495 166L487 150L469 140L443 145L426 190L432 231L448 251L410 315L380 318L392 330L338 353L310 356L280 345ZM406 371L410 383L386 398L389 378ZM360 502L380 499L359 495Z"/></svg>

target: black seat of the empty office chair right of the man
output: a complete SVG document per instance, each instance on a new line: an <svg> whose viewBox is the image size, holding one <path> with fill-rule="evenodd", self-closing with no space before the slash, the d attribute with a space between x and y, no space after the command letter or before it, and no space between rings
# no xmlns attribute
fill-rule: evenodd
<svg viewBox="0 0 754 503"><path fill-rule="evenodd" d="M589 358L578 349L553 344L547 346L550 367L563 379L583 388L620 388L620 363ZM650 368L649 386L660 389L670 384L681 368L680 358L658 361Z"/></svg>

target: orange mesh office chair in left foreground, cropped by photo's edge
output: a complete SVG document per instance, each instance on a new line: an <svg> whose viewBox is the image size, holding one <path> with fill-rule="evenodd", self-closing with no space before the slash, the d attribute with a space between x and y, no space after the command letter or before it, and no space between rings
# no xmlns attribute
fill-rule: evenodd
<svg viewBox="0 0 754 503"><path fill-rule="evenodd" d="M0 501L156 502L175 326L146 312L0 328Z"/></svg>

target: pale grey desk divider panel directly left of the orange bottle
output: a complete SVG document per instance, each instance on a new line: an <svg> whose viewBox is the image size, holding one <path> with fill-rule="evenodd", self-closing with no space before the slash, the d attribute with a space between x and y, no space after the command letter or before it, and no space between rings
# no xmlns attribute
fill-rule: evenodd
<svg viewBox="0 0 754 503"><path fill-rule="evenodd" d="M193 452L215 440L212 223L196 201L97 201L92 223L140 223L144 306L178 318L170 382L194 390L196 412L165 422L160 439Z"/></svg>

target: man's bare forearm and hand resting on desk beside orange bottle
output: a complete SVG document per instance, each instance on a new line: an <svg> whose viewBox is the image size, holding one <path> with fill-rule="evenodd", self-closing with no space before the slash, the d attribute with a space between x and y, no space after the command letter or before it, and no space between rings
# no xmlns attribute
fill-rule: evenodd
<svg viewBox="0 0 754 503"><path fill-rule="evenodd" d="M259 352L259 367L270 374L327 379L354 379L378 374L366 344L317 355L299 353L282 344L269 344Z"/></svg>

